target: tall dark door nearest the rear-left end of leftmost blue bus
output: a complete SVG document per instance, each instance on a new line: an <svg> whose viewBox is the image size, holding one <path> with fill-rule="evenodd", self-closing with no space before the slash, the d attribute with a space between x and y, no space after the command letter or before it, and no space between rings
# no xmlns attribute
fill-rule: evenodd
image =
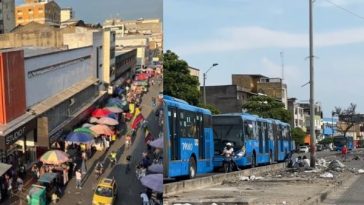
<svg viewBox="0 0 364 205"><path fill-rule="evenodd" d="M170 152L171 161L180 160L179 140L177 134L177 109L175 107L168 108L168 123L169 123L169 140L171 142Z"/></svg>

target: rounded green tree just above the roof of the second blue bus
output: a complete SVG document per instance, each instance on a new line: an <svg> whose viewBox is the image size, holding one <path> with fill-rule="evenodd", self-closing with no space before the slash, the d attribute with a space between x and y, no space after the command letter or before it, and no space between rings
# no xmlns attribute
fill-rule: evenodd
<svg viewBox="0 0 364 205"><path fill-rule="evenodd" d="M264 118L278 119L287 123L291 120L291 114L284 108L282 102L265 95L250 97L243 105L243 109Z"/></svg>

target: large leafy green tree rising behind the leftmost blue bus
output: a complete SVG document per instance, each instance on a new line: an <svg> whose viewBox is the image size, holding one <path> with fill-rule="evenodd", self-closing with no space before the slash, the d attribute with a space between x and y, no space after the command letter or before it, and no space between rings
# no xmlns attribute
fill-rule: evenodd
<svg viewBox="0 0 364 205"><path fill-rule="evenodd" d="M167 50L163 55L163 69L163 94L198 105L199 81L196 76L190 75L187 62Z"/></svg>

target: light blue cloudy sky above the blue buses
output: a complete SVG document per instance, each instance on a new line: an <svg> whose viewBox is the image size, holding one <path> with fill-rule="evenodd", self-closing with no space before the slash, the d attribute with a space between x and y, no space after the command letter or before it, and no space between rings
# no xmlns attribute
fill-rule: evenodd
<svg viewBox="0 0 364 205"><path fill-rule="evenodd" d="M330 0L364 17L363 0ZM174 51L206 85L231 84L231 74L282 77L288 96L309 99L307 0L164 1L165 49ZM326 0L314 3L315 100L324 115L351 102L364 113L364 19ZM202 78L200 78L202 82Z"/></svg>

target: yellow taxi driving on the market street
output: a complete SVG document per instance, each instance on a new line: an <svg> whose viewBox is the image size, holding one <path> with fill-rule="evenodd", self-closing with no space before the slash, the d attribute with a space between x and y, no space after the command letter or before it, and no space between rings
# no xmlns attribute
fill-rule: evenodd
<svg viewBox="0 0 364 205"><path fill-rule="evenodd" d="M92 198L93 205L112 205L118 194L117 185L114 179L103 178L95 189Z"/></svg>

